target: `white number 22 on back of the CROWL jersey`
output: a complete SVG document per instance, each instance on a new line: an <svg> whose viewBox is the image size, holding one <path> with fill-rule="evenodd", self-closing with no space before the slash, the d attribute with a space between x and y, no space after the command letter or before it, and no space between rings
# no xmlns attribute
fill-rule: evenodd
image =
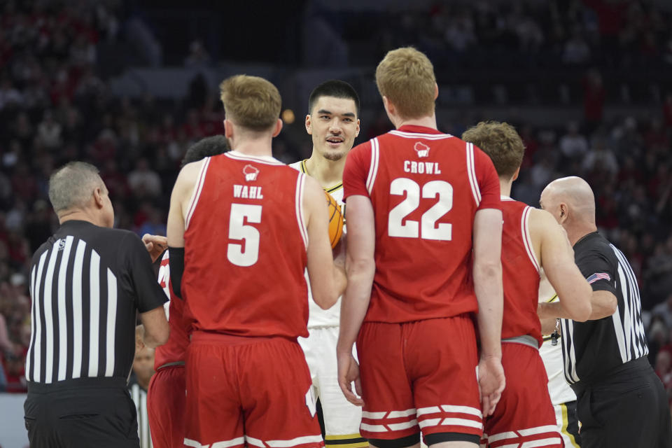
<svg viewBox="0 0 672 448"><path fill-rule="evenodd" d="M420 186L416 181L400 177L390 183L390 194L406 195L388 215L387 232L390 237L435 239L451 241L453 225L437 221L453 208L453 186L446 181L429 181ZM404 218L420 206L420 198L437 199L437 202L422 214L420 222Z"/></svg>

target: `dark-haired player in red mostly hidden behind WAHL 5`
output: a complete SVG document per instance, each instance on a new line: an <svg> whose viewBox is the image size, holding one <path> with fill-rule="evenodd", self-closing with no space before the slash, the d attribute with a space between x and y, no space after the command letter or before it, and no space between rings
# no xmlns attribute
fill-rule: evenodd
<svg viewBox="0 0 672 448"><path fill-rule="evenodd" d="M190 146L182 167L212 155L229 151L226 137L206 137ZM168 251L165 251L159 268L159 283L170 302L164 305L170 337L155 351L154 370L147 391L147 414L154 448L182 446L185 415L185 369L190 325L184 317L184 304L175 297L170 285Z"/></svg>

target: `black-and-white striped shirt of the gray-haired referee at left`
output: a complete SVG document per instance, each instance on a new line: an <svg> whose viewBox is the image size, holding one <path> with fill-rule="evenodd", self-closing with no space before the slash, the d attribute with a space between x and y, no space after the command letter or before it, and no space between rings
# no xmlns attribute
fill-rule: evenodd
<svg viewBox="0 0 672 448"><path fill-rule="evenodd" d="M83 377L127 380L137 311L166 302L139 237L85 221L64 222L38 248L30 295L26 379L43 384Z"/></svg>

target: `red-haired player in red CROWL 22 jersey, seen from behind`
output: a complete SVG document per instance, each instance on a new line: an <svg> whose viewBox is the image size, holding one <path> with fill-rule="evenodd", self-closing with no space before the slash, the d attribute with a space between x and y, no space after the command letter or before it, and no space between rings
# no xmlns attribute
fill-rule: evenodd
<svg viewBox="0 0 672 448"><path fill-rule="evenodd" d="M376 83L396 130L353 148L343 173L339 385L363 405L360 433L376 447L416 447L421 432L429 445L478 447L505 386L497 173L437 130L438 87L421 52L388 52Z"/></svg>

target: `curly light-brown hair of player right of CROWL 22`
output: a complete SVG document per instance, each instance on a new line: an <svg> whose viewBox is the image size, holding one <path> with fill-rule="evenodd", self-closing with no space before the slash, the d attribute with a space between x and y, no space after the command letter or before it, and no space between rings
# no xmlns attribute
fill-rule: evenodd
<svg viewBox="0 0 672 448"><path fill-rule="evenodd" d="M508 123L482 121L466 130L462 139L489 155L498 176L504 179L511 179L523 162L525 145L515 128Z"/></svg>

